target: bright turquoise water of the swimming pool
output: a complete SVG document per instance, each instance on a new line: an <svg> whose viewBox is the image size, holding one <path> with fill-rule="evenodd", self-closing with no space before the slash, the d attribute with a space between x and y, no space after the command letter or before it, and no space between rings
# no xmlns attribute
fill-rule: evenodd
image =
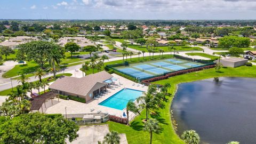
<svg viewBox="0 0 256 144"><path fill-rule="evenodd" d="M121 91L115 93L108 99L99 103L101 106L110 107L114 109L123 110L128 101L134 101L142 95L143 91L133 90L133 89L122 89Z"/></svg>

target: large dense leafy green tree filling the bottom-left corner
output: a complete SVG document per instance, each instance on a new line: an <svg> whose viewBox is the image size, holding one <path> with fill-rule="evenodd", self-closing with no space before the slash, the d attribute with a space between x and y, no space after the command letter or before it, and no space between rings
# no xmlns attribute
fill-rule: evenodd
<svg viewBox="0 0 256 144"><path fill-rule="evenodd" d="M39 123L38 123L39 122ZM66 143L78 137L78 125L61 115L22 114L1 124L0 143Z"/></svg>

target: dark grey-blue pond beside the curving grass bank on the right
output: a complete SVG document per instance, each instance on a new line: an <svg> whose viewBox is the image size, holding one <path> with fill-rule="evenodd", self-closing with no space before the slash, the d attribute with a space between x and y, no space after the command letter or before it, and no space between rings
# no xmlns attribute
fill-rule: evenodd
<svg viewBox="0 0 256 144"><path fill-rule="evenodd" d="M182 83L173 99L177 133L196 130L201 143L255 143L256 79L221 77Z"/></svg>

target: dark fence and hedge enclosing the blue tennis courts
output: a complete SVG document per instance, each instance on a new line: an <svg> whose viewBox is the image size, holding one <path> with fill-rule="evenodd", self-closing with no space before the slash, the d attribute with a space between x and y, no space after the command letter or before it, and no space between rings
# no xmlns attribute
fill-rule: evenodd
<svg viewBox="0 0 256 144"><path fill-rule="evenodd" d="M187 68L187 69L182 69L182 70L177 70L177 71L165 72L163 74L158 74L158 75L154 75L154 76L150 76L150 77L145 77L145 78L135 77L135 76L133 76L131 74L127 74L127 73L125 73L125 72L115 68L115 67L121 67L121 66L127 66L128 67L130 65L129 62L118 63L118 64L115 64L115 65L107 65L105 67L105 69L107 71L111 71L111 72L113 72L113 73L115 73L117 75L120 75L122 77L125 77L127 79L130 79L131 81L142 82L143 84L148 85L149 81L150 82L159 81L161 79L166 79L166 78L168 78L170 76L186 74L186 73L191 73L191 72L198 71L198 70L203 70L203 69L215 67L215 63L213 62L213 60L197 60L197 59L182 57L181 55L176 55L176 54L173 55L173 58L177 58L177 59L181 59L181 60L186 60L186 61L191 61L191 62L203 63L204 65L190 67L190 68ZM167 59L170 59L170 58L167 58ZM139 73L141 73L141 72L142 71L139 71Z"/></svg>

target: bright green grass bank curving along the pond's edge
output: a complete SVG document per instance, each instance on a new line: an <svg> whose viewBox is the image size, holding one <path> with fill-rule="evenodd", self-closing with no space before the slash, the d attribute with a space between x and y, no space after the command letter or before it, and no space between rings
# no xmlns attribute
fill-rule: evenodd
<svg viewBox="0 0 256 144"><path fill-rule="evenodd" d="M252 67L238 67L238 68L221 68L221 72L215 72L215 69L206 69L202 71L197 71L194 73L179 75L164 79L162 81L154 82L155 84L165 84L167 82L171 83L171 88L169 92L172 95L175 94L177 85L185 82L198 81L206 78L212 77L256 77L256 73L252 71L256 70L256 66ZM153 134L153 143L183 143L175 134L171 123L170 107L173 97L169 97L168 101L165 102L165 107L163 109L157 110L159 117L157 118L161 122L162 131L159 134ZM131 126L126 126L123 124L118 124L115 122L108 122L110 131L117 131L119 133L125 133L126 138L129 143L148 143L149 134L142 130L143 123L142 119L145 119L145 110L142 111L141 115L137 116L132 122Z"/></svg>

